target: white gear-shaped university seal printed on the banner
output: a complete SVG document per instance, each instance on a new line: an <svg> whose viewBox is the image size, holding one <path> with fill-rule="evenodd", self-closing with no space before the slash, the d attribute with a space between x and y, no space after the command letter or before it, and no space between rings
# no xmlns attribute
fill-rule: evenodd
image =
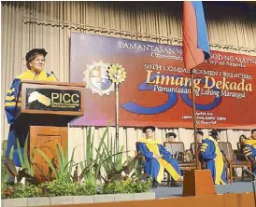
<svg viewBox="0 0 256 207"><path fill-rule="evenodd" d="M92 90L92 94L109 95L114 90L114 84L107 76L108 66L108 63L102 61L92 62L86 66L83 81L86 83L86 89Z"/></svg>

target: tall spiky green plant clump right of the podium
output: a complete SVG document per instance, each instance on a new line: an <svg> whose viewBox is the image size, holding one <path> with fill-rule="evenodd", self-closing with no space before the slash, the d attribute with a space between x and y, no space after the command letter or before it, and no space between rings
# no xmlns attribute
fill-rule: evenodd
<svg viewBox="0 0 256 207"><path fill-rule="evenodd" d="M82 162L79 163L82 173L78 176L80 180L84 177L86 183L95 184L96 180L101 179L106 183L113 180L123 180L135 169L137 157L127 159L122 163L123 154L127 151L124 152L123 145L117 149L116 140L114 141L114 145L113 142L111 142L112 138L109 142L108 130L109 126L107 126L104 131L98 147L94 148L96 154L95 157L93 157L94 135L92 134L91 127L89 128L86 148L87 159L85 165ZM125 173L125 175L121 175L122 173Z"/></svg>

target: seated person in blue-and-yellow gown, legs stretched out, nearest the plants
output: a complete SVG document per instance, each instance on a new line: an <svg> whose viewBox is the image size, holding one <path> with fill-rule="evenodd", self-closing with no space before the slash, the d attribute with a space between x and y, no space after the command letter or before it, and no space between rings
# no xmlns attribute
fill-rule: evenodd
<svg viewBox="0 0 256 207"><path fill-rule="evenodd" d="M145 173L148 173L153 178L153 187L157 187L157 183L161 183L164 179L164 170L166 170L173 178L173 186L180 179L180 170L178 161L172 159L172 155L168 152L161 142L154 139L154 127L145 127L143 132L146 138L139 140L137 151L140 151L145 157L144 168ZM178 184L177 184L178 186Z"/></svg>

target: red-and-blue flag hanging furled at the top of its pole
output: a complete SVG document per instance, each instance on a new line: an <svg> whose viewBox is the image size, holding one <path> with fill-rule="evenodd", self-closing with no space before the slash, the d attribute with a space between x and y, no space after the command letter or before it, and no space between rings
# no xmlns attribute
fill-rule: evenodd
<svg viewBox="0 0 256 207"><path fill-rule="evenodd" d="M183 3L183 60L187 69L209 58L206 21L202 2Z"/></svg>

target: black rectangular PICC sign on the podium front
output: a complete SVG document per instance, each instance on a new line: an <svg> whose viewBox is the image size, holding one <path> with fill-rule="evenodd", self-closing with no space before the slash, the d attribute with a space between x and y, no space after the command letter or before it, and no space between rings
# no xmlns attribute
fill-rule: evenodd
<svg viewBox="0 0 256 207"><path fill-rule="evenodd" d="M81 91L27 88L26 109L81 111Z"/></svg>

